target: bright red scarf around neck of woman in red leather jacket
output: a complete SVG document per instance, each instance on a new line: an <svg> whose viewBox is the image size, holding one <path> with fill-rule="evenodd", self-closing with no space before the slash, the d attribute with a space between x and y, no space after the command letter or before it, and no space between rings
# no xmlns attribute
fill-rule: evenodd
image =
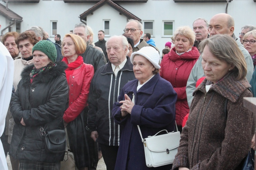
<svg viewBox="0 0 256 170"><path fill-rule="evenodd" d="M66 77L67 77L67 81L69 84L70 75L73 74L74 69L76 69L77 67L79 67L80 65L82 65L84 63L84 60L83 60L82 56L78 56L77 59L72 63L68 63L67 57L64 57L62 59L62 61L65 62L66 64L68 64L68 68L65 70L65 72L66 72Z"/></svg>

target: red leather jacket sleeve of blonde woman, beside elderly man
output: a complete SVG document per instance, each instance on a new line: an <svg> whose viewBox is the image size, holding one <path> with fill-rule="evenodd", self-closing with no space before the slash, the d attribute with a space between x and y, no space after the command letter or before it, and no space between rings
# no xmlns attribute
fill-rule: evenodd
<svg viewBox="0 0 256 170"><path fill-rule="evenodd" d="M64 112L63 120L65 120L65 122L69 123L73 121L86 107L89 89L90 89L90 83L91 83L91 79L93 78L93 75L94 75L93 66L86 65L86 70L83 78L83 84L82 84L80 95Z"/></svg>

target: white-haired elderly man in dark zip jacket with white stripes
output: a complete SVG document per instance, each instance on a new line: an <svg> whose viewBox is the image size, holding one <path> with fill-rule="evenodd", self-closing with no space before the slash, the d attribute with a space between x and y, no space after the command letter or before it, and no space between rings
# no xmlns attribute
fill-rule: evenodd
<svg viewBox="0 0 256 170"><path fill-rule="evenodd" d="M111 117L111 110L124 85L135 76L127 56L129 45L126 37L113 36L106 42L106 47L110 62L99 68L91 81L86 129L91 132L91 138L100 143L107 169L114 169L120 126Z"/></svg>

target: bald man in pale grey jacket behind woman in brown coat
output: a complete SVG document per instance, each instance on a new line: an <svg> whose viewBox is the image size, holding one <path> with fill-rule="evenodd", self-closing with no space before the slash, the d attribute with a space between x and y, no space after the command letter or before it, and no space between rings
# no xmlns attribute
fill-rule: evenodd
<svg viewBox="0 0 256 170"><path fill-rule="evenodd" d="M237 42L239 49L242 51L244 55L245 62L247 64L246 79L250 82L253 75L253 68L254 68L253 61L249 52L243 47L243 45L240 43L238 38L234 35L234 19L230 15L225 13L214 15L210 20L209 33L210 33L210 37L217 34L227 34L234 38L234 40ZM187 101L188 101L189 107L193 99L192 94L196 89L197 80L205 76L201 62L202 62L202 57L200 56L196 64L192 68L187 81L186 93L187 93Z"/></svg>

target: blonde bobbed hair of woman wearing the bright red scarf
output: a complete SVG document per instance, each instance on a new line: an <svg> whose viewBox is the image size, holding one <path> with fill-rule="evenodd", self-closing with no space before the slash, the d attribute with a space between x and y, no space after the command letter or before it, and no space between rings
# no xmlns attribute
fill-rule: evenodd
<svg viewBox="0 0 256 170"><path fill-rule="evenodd" d="M75 34L66 34L63 38L63 40L66 38L66 37L70 37L74 44L75 44L75 51L78 55L81 55L82 53L85 52L86 50L86 43L85 41L83 40L83 38L81 38L80 36L78 35L75 35ZM62 41L63 41L62 40ZM63 53L63 45L62 45L62 50L61 50L61 54L62 56L64 56L64 53Z"/></svg>

